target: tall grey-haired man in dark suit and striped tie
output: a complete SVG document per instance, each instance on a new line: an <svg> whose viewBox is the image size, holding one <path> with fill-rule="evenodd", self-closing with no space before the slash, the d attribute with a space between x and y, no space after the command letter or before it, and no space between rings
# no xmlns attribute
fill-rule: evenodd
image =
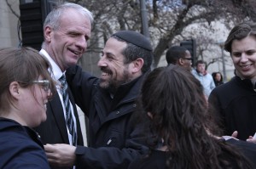
<svg viewBox="0 0 256 169"><path fill-rule="evenodd" d="M66 85L65 72L84 54L92 21L90 11L75 3L54 8L44 21L40 54L53 68L51 75L57 82L58 92L47 104L47 121L35 128L44 144L83 145L79 115Z"/></svg>

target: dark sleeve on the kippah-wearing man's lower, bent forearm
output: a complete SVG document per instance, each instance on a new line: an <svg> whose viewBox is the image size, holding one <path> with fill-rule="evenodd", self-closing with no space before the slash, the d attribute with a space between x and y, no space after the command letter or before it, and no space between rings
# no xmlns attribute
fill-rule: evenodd
<svg viewBox="0 0 256 169"><path fill-rule="evenodd" d="M141 135L141 127L136 127L131 138L125 141L125 148L115 147L88 148L78 146L76 149L77 164L79 168L125 169L131 161L148 153L145 145L146 137Z"/></svg>

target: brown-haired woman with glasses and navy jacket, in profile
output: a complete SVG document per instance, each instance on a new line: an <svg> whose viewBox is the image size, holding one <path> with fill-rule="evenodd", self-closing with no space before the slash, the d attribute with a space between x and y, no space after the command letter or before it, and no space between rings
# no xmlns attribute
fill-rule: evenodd
<svg viewBox="0 0 256 169"><path fill-rule="evenodd" d="M49 63L32 48L0 49L0 168L49 168L37 127L55 93Z"/></svg>

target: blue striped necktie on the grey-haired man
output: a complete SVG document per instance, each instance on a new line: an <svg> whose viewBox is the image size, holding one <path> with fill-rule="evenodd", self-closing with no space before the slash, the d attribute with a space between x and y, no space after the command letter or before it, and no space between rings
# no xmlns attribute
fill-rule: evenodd
<svg viewBox="0 0 256 169"><path fill-rule="evenodd" d="M73 121L73 115L71 111L71 104L69 101L68 93L67 93L67 81L66 76L63 74L61 78L59 79L61 82L61 93L63 97L63 102L66 108L66 124L67 128L69 130L69 133L72 135L73 145L77 145L77 133L74 127L74 121Z"/></svg>

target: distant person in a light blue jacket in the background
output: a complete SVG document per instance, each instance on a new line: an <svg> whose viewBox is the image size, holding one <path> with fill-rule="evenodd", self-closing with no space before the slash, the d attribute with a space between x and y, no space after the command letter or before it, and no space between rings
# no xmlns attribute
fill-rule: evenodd
<svg viewBox="0 0 256 169"><path fill-rule="evenodd" d="M204 87L205 96L208 98L215 84L212 76L207 73L206 63L203 60L197 60L195 70L192 70L192 74L201 82L201 85Z"/></svg>

